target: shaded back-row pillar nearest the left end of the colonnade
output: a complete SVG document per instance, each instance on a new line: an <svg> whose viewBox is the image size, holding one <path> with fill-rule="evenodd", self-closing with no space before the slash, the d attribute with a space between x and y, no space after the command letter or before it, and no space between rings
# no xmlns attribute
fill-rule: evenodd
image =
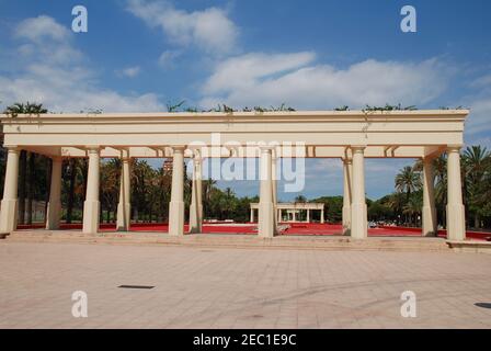
<svg viewBox="0 0 491 351"><path fill-rule="evenodd" d="M59 229L61 219L61 163L60 157L52 159L52 184L49 186L49 202L46 216L46 229Z"/></svg>

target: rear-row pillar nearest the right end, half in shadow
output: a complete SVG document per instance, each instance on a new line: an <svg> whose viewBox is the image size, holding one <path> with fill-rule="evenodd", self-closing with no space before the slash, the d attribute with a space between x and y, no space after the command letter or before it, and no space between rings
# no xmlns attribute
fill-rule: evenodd
<svg viewBox="0 0 491 351"><path fill-rule="evenodd" d="M424 237L434 237L437 234L434 182L433 159L424 158L422 208L422 235Z"/></svg>

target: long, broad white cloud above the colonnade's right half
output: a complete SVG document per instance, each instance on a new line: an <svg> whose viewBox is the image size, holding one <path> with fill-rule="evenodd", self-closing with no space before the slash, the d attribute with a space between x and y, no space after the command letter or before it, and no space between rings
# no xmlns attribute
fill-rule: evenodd
<svg viewBox="0 0 491 351"><path fill-rule="evenodd" d="M339 69L315 65L315 55L263 53L219 63L203 84L202 105L278 105L298 109L361 107L368 104L422 105L447 88L452 69L437 59L422 63L368 59Z"/></svg>

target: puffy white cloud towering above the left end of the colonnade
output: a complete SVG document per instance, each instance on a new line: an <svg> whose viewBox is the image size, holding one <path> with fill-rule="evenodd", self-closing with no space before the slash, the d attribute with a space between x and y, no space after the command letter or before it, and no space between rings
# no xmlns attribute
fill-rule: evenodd
<svg viewBox="0 0 491 351"><path fill-rule="evenodd" d="M14 37L25 41L13 49L21 54L22 68L14 76L0 76L0 95L4 105L42 102L54 112L164 109L153 93L124 95L101 88L95 73L83 65L83 54L73 47L73 34L54 19L41 15L24 20L14 33Z"/></svg>

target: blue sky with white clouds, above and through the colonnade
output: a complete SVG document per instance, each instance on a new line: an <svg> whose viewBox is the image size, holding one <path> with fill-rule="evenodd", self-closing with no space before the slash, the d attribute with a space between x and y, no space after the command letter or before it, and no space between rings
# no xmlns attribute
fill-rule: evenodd
<svg viewBox="0 0 491 351"><path fill-rule="evenodd" d="M71 31L77 4L88 9L88 33ZM404 4L416 9L416 33L400 30ZM463 105L466 143L489 147L490 13L487 0L1 0L0 107ZM367 195L392 191L407 163L367 160ZM341 194L341 176L338 160L308 160L302 193ZM220 185L258 192L256 182Z"/></svg>

